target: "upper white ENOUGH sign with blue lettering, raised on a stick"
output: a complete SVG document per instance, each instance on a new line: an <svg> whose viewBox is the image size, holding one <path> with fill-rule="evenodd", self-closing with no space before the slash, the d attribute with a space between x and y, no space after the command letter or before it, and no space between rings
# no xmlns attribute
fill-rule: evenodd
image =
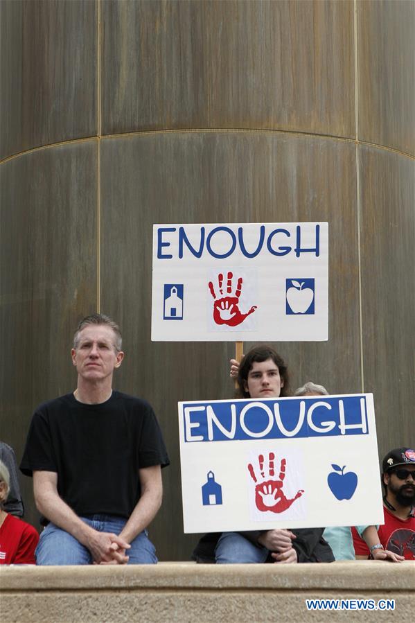
<svg viewBox="0 0 415 623"><path fill-rule="evenodd" d="M153 226L152 340L328 339L328 223Z"/></svg>

